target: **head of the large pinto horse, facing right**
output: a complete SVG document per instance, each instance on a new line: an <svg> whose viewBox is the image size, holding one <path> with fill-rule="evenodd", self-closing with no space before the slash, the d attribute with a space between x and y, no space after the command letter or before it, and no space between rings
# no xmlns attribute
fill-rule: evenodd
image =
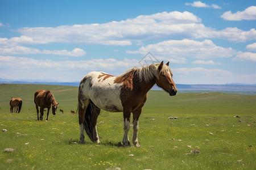
<svg viewBox="0 0 256 170"><path fill-rule="evenodd" d="M156 79L156 85L167 91L170 96L175 96L177 94L177 88L175 86L174 80L172 80L172 72L168 67L169 62L164 65L163 61L158 66L159 79Z"/></svg>

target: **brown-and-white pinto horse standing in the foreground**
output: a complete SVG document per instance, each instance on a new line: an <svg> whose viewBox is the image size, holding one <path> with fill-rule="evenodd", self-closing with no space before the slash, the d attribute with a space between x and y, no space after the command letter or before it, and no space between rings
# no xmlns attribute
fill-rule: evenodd
<svg viewBox="0 0 256 170"><path fill-rule="evenodd" d="M97 133L97 118L101 109L108 112L123 112L123 146L130 146L128 132L133 113L133 144L139 147L139 116L147 99L147 92L156 83L170 96L177 93L172 80L169 62L153 63L133 68L120 76L93 71L84 76L79 85L80 141L85 143L84 129L92 142L100 143Z"/></svg>

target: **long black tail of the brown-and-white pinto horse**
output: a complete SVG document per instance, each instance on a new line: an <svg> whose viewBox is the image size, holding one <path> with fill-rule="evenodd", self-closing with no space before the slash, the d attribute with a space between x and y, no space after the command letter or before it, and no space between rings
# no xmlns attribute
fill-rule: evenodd
<svg viewBox="0 0 256 170"><path fill-rule="evenodd" d="M91 100L88 104L88 107L85 111L84 116L84 129L86 134L89 136L92 142L96 142L97 139L93 138L93 128L97 124L98 115L100 114L101 109L98 108Z"/></svg>

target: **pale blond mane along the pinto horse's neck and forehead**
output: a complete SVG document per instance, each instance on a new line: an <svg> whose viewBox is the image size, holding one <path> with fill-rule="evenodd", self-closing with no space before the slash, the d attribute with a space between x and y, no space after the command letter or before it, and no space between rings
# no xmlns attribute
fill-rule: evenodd
<svg viewBox="0 0 256 170"><path fill-rule="evenodd" d="M148 65L148 66L132 68L130 70L127 70L126 73L119 75L117 77L118 82L123 82L123 80L129 79L131 76L134 77L135 75L138 76L140 82L142 82L142 80L146 82L150 82L154 78L159 79L160 74L167 73L168 71L172 75L171 69L167 65L163 65L159 73L159 70L158 70L159 65L160 63L152 63L151 65Z"/></svg>

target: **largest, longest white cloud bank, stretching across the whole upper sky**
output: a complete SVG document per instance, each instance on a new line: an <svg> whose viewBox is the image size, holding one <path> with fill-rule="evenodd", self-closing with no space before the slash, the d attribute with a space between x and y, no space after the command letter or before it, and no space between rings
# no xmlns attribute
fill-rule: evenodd
<svg viewBox="0 0 256 170"><path fill-rule="evenodd" d="M102 45L142 45L143 41L182 39L225 39L245 42L256 40L255 28L243 31L225 28L216 31L205 27L201 19L191 12L161 12L139 15L136 18L104 24L61 25L17 29L20 37L0 38L0 46L8 48L24 44L49 44L52 42Z"/></svg>

